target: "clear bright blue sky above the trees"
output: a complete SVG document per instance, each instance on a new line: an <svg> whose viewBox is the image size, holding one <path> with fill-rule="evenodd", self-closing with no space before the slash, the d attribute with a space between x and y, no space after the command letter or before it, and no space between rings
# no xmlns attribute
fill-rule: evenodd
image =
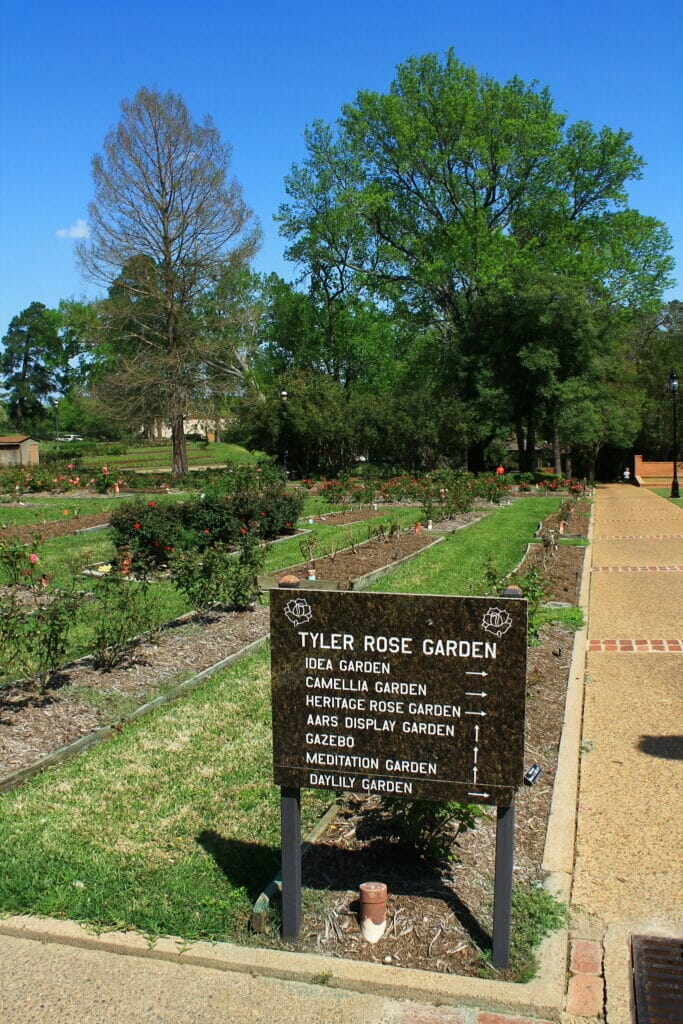
<svg viewBox="0 0 683 1024"><path fill-rule="evenodd" d="M645 159L631 205L669 227L682 298L683 48L679 0L4 0L0 14L0 337L37 300L87 297L74 241L90 160L141 85L179 92L231 143L258 215L256 269L294 270L272 215L315 118L384 91L409 56L456 55L548 86L569 121L633 134Z"/></svg>

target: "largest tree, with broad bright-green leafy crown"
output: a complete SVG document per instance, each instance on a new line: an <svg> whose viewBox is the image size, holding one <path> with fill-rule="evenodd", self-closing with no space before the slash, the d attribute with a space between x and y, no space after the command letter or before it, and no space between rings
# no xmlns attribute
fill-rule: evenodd
<svg viewBox="0 0 683 1024"><path fill-rule="evenodd" d="M666 227L628 208L627 184L643 166L629 134L567 125L545 88L499 83L453 52L428 54L399 66L388 93L359 92L334 127L316 122L305 138L279 213L289 256L313 278L325 268L340 293L372 294L430 323L444 393L470 403L465 419L479 419L482 394L514 397L498 385L506 359L516 360L520 401L509 422L519 429L526 411L528 447L539 402L567 372L583 372L580 359L567 371L565 356L586 340L586 319L572 342L539 293L571 291L584 310L645 309L670 283ZM502 296L508 340L475 349L473 386L472 324L482 331L490 312L490 337ZM524 406L537 389L539 401Z"/></svg>

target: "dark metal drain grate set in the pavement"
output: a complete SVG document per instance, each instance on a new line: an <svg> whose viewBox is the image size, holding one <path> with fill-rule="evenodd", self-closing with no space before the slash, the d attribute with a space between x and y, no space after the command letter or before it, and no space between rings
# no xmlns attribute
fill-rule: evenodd
<svg viewBox="0 0 683 1024"><path fill-rule="evenodd" d="M683 939L632 935L636 1024L683 1024Z"/></svg>

